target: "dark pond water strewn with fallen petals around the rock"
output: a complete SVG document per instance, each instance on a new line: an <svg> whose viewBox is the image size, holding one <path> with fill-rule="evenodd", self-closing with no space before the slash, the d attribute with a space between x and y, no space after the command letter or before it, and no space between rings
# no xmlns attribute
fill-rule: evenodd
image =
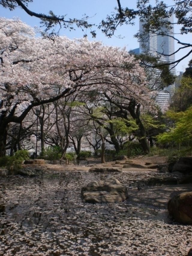
<svg viewBox="0 0 192 256"><path fill-rule="evenodd" d="M140 175L113 174L134 191ZM165 207L129 199L82 203L82 186L107 176L65 171L1 178L0 255L187 255L191 226L174 222Z"/></svg>

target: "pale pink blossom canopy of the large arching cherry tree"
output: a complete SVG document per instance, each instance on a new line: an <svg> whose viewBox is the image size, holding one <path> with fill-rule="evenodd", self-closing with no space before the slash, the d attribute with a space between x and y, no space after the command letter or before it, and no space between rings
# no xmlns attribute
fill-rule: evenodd
<svg viewBox="0 0 192 256"><path fill-rule="evenodd" d="M116 104L134 98L149 105L150 90L139 60L125 49L87 39L36 38L20 20L0 20L0 156L10 122L22 123L32 108L72 95L78 88L105 91ZM79 91L80 93L80 91Z"/></svg>

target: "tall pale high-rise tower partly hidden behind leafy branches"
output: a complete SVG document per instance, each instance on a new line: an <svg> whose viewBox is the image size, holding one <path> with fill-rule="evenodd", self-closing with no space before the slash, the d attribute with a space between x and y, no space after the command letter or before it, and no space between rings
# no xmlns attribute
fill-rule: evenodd
<svg viewBox="0 0 192 256"><path fill-rule="evenodd" d="M173 23L173 16L169 18L170 22ZM144 28L143 28L144 23L140 22L140 34L143 33ZM163 30L162 30L163 31ZM164 29L164 32L168 36L161 36L161 35L156 35L152 33L148 33L144 36L143 40L140 40L140 47L134 50L131 50L130 53L147 53L151 54L153 56L158 56L161 54L160 61L161 62L174 62L175 61L175 47L174 47L174 39L171 37L174 35L174 28L171 30L167 30L166 28ZM173 55L171 55L173 54ZM169 56L170 55L170 56ZM174 67L174 64L170 65L170 71L173 75L176 75L176 70ZM170 104L170 96L171 94L175 91L175 84L170 85L168 87L165 87L164 90L161 90L158 92L156 96L156 101L157 103L165 108L168 107Z"/></svg>

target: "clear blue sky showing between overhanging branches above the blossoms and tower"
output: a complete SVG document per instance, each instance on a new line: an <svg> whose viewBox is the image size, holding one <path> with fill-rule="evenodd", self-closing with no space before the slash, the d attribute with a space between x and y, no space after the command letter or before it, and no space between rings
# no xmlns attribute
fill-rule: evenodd
<svg viewBox="0 0 192 256"><path fill-rule="evenodd" d="M169 4L172 0L167 0ZM136 0L127 1L121 0L122 7L128 6L129 8L136 8ZM98 24L104 19L107 14L110 14L114 11L114 7L117 6L116 0L34 0L34 2L29 3L28 8L31 11L48 14L49 10L52 10L57 15L67 15L67 18L82 18L84 14L87 14L91 23ZM0 16L6 18L19 17L23 22L27 23L30 26L39 26L39 19L35 17L30 17L26 14L21 8L16 8L14 11L9 11L8 9L4 9L0 7ZM137 39L134 38L134 34L139 30L139 20L137 19L134 26L124 25L119 27L116 31L116 35L112 38L107 38L102 34L101 31L97 31L96 39L91 38L89 35L89 30L86 31L89 40L98 40L102 41L106 45L113 45L118 47L126 47L127 50L131 50L139 47L139 43ZM175 26L175 32L179 31L179 27ZM67 37L73 38L82 38L83 32L80 29L76 29L76 31L69 31L62 29L60 31L60 35L66 35ZM122 38L118 38L118 35L122 35ZM183 42L190 42L191 35L182 35L179 36L179 39ZM177 44L175 44L175 49L177 49ZM176 58L182 56L183 53L178 53ZM184 59L179 65L176 67L177 71L184 71L187 67L189 60L192 58L192 55L188 58Z"/></svg>

